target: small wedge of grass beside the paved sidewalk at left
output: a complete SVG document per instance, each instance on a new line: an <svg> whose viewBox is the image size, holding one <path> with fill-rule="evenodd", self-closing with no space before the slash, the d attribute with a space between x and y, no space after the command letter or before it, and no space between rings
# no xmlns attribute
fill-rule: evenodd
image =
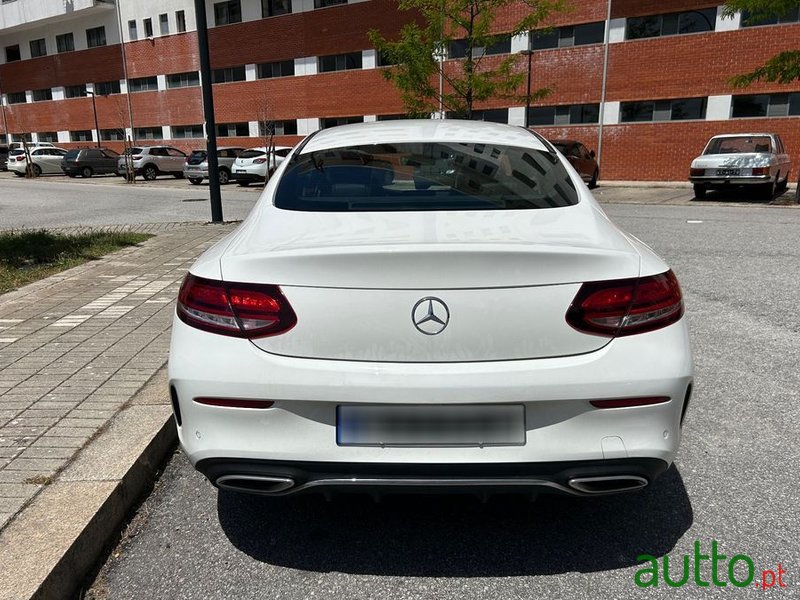
<svg viewBox="0 0 800 600"><path fill-rule="evenodd" d="M0 232L0 294L153 236L144 233Z"/></svg>

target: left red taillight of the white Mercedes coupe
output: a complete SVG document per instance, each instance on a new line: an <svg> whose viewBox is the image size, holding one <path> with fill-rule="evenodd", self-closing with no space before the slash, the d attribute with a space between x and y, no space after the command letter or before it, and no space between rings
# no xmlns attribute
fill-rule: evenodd
<svg viewBox="0 0 800 600"><path fill-rule="evenodd" d="M297 323L278 286L227 283L194 275L183 280L177 310L187 325L243 338L278 335Z"/></svg>

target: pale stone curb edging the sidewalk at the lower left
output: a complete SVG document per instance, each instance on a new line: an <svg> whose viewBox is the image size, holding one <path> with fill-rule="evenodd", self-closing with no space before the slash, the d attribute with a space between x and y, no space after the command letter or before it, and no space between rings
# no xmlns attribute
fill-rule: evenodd
<svg viewBox="0 0 800 600"><path fill-rule="evenodd" d="M0 536L2 600L71 598L177 443L162 367Z"/></svg>

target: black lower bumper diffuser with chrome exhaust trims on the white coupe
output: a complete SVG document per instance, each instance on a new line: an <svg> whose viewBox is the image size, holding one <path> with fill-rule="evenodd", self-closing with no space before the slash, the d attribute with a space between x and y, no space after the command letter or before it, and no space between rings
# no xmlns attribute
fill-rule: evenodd
<svg viewBox="0 0 800 600"><path fill-rule="evenodd" d="M513 464L368 464L213 458L197 469L217 487L284 496L307 492L555 493L594 496L636 491L669 464L660 459Z"/></svg>

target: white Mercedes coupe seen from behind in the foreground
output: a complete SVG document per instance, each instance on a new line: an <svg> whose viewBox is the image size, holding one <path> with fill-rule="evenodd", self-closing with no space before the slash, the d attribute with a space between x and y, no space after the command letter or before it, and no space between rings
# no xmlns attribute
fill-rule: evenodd
<svg viewBox="0 0 800 600"><path fill-rule="evenodd" d="M346 125L190 269L170 391L221 488L636 490L681 439L683 315L670 268L536 133Z"/></svg>

